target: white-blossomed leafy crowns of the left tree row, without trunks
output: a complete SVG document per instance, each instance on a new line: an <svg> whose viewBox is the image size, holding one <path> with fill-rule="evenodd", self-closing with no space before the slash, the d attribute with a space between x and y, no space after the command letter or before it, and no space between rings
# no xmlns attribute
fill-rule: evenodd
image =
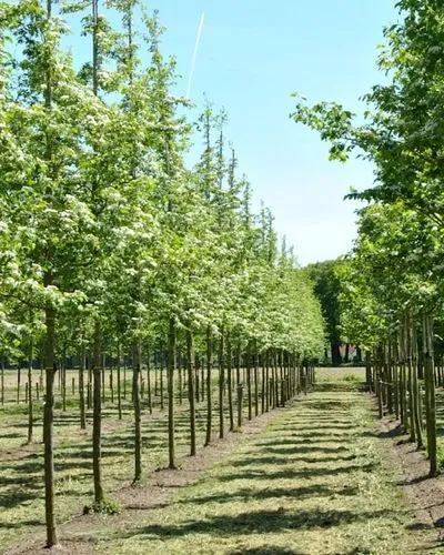
<svg viewBox="0 0 444 555"><path fill-rule="evenodd" d="M83 18L94 81L91 62L77 74L61 47L62 17L87 4L56 8L1 3L3 354L17 356L30 334L41 344L51 306L59 355L78 354L79 341L88 347L93 319L113 350L155 343L172 315L198 336L224 327L245 345L316 356L323 324L312 287L292 253L278 253L269 211L252 212L234 151L225 158L224 112L205 109L202 158L185 167L192 125L171 93L175 62L160 51L157 14L143 16L144 43L135 2L110 2L121 29ZM23 56L11 63L16 47Z"/></svg>

